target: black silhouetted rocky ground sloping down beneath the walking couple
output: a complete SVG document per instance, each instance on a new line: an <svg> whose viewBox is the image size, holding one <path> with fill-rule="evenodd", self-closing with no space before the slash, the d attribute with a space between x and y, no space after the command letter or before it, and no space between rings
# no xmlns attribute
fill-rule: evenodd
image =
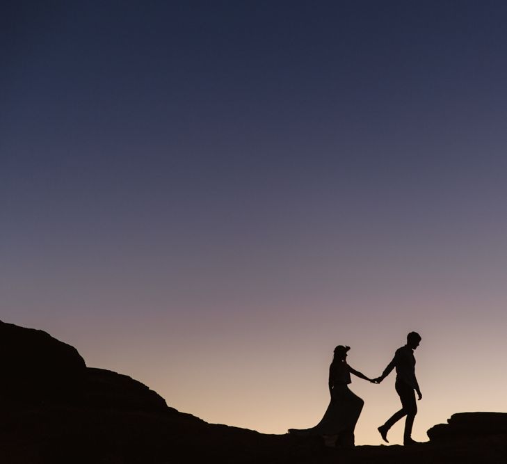
<svg viewBox="0 0 507 464"><path fill-rule="evenodd" d="M42 330L0 321L0 348L0 463L507 462L507 414L455 414L413 447L331 449L179 413L129 376L86 367Z"/></svg>

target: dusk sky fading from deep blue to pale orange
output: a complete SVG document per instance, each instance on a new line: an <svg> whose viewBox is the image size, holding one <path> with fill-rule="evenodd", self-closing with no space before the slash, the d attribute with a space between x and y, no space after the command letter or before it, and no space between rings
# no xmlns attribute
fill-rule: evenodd
<svg viewBox="0 0 507 464"><path fill-rule="evenodd" d="M417 330L417 440L507 412L507 3L0 8L1 320L265 433Z"/></svg>

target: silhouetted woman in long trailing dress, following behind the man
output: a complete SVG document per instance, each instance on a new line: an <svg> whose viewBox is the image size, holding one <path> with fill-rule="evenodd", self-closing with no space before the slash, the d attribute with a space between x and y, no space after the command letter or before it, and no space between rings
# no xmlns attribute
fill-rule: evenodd
<svg viewBox="0 0 507 464"><path fill-rule="evenodd" d="M321 422L311 429L289 429L289 433L300 436L321 435L329 446L354 446L354 429L361 414L364 401L348 389L351 374L373 383L346 362L350 346L339 345L329 367L329 392L331 401Z"/></svg>

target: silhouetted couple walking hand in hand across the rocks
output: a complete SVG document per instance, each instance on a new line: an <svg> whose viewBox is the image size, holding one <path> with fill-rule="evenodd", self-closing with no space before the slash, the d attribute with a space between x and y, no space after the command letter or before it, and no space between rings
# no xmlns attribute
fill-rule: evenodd
<svg viewBox="0 0 507 464"><path fill-rule="evenodd" d="M404 445L414 445L412 440L412 424L417 414L415 392L422 398L417 378L415 377L414 350L419 346L421 336L416 332L407 335L407 344L396 350L394 358L377 378L368 378L361 372L348 365L346 358L350 346L339 345L335 348L335 355L329 367L329 392L331 401L321 422L311 429L289 429L289 433L300 436L323 436L326 445L354 446L354 429L361 414L364 401L351 392L351 374L369 381L380 383L396 368L396 392L401 400L401 409L392 415L385 424L378 427L378 431L385 442L389 429L404 416L405 433Z"/></svg>

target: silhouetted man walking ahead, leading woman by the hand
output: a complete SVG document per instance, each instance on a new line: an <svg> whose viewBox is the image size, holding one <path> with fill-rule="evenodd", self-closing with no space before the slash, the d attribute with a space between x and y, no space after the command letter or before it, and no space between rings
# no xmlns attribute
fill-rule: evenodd
<svg viewBox="0 0 507 464"><path fill-rule="evenodd" d="M378 431L385 442L387 440L387 432L396 424L403 416L405 419L405 433L403 433L403 445L415 445L417 442L412 440L412 425L417 414L417 403L415 401L415 392L422 398L421 390L417 378L415 378L415 357L414 350L421 342L421 335L417 332L410 332L407 335L407 344L396 350L394 358L384 369L382 375L374 381L380 383L386 378L396 367L396 392L401 400L401 409L392 415L385 424L378 427Z"/></svg>

